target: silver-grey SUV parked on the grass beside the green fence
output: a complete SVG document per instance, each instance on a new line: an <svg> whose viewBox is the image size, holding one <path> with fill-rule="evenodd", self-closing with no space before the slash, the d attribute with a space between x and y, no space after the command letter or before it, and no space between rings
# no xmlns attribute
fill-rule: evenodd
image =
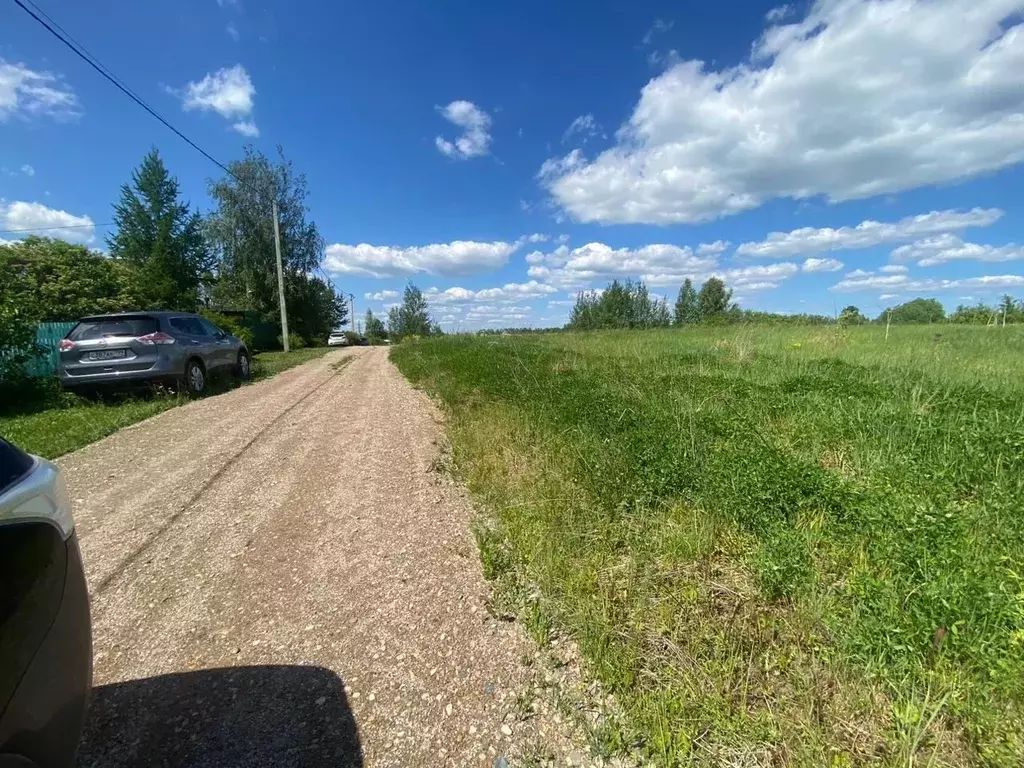
<svg viewBox="0 0 1024 768"><path fill-rule="evenodd" d="M248 379L241 339L187 312L125 312L83 317L60 340L57 372L69 388L166 383L199 394L210 376Z"/></svg>

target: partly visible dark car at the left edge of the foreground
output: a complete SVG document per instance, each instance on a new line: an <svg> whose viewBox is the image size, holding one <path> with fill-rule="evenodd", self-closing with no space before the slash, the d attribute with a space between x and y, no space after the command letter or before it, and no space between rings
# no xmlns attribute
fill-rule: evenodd
<svg viewBox="0 0 1024 768"><path fill-rule="evenodd" d="M0 439L0 768L74 764L91 632L60 470Z"/></svg>

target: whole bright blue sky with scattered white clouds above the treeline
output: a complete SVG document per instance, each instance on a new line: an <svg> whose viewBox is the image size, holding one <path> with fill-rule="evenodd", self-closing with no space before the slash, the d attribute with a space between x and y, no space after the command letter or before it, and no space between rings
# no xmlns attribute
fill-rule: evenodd
<svg viewBox="0 0 1024 768"><path fill-rule="evenodd" d="M359 314L408 280L449 329L615 276L1024 296L1024 0L38 4L214 157L281 143ZM217 169L12 3L0 137L0 229L102 247L151 146L210 206Z"/></svg>

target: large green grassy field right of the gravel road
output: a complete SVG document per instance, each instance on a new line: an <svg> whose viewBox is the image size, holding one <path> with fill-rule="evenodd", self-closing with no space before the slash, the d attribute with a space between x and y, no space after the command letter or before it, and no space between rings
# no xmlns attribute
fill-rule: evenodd
<svg viewBox="0 0 1024 768"><path fill-rule="evenodd" d="M484 570L658 765L1024 765L1024 329L450 337Z"/></svg>

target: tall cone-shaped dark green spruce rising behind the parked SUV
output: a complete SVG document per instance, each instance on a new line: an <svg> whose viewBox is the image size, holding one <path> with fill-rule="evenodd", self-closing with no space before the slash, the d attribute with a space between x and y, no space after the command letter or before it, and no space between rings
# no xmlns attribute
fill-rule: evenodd
<svg viewBox="0 0 1024 768"><path fill-rule="evenodd" d="M156 150L121 187L114 221L117 231L106 240L111 256L136 268L143 306L195 311L210 250L199 213L178 201L178 181Z"/></svg>

